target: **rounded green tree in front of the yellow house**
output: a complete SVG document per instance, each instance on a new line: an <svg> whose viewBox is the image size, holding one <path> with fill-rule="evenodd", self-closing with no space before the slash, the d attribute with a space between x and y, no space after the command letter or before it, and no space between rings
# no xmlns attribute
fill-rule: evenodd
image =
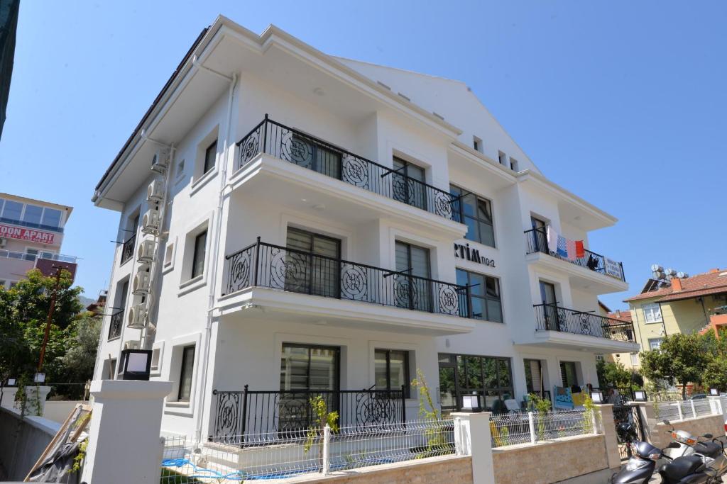
<svg viewBox="0 0 727 484"><path fill-rule="evenodd" d="M686 385L702 382L710 360L708 350L707 341L700 335L668 335L660 348L640 353L641 371L649 380L682 385L682 398L686 398Z"/></svg>

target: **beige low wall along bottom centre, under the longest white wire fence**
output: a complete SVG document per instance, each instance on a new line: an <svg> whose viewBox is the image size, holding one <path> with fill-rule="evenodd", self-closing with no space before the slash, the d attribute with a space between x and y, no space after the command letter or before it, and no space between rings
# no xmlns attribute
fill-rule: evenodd
<svg viewBox="0 0 727 484"><path fill-rule="evenodd" d="M298 477L294 481L326 484L471 484L473 483L472 457L430 457L406 463L334 472L326 477L313 476L310 480Z"/></svg>

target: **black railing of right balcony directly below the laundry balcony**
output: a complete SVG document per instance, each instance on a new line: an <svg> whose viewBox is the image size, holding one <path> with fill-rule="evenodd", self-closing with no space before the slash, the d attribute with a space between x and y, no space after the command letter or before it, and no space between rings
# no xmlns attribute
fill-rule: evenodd
<svg viewBox="0 0 727 484"><path fill-rule="evenodd" d="M555 304L534 304L533 307L538 331L560 331L634 343L634 328L630 322Z"/></svg>

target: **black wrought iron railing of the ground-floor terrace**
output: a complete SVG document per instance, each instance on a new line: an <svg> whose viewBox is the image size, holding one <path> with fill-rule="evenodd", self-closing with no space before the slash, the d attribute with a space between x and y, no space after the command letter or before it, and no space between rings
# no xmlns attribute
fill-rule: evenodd
<svg viewBox="0 0 727 484"><path fill-rule="evenodd" d="M302 436L316 424L311 398L320 396L328 411L337 411L339 427L401 424L406 420L406 398L401 390L213 390L214 431L210 440L254 443L270 434Z"/></svg>

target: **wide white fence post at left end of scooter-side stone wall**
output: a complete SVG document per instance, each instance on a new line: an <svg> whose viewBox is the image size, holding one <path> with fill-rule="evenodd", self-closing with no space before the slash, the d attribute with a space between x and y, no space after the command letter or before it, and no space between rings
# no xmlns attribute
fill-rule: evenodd
<svg viewBox="0 0 727 484"><path fill-rule="evenodd" d="M454 448L457 455L472 456L473 484L494 484L492 463L492 436L490 412L474 414L457 412L451 417L459 419L460 432L454 432Z"/></svg>

